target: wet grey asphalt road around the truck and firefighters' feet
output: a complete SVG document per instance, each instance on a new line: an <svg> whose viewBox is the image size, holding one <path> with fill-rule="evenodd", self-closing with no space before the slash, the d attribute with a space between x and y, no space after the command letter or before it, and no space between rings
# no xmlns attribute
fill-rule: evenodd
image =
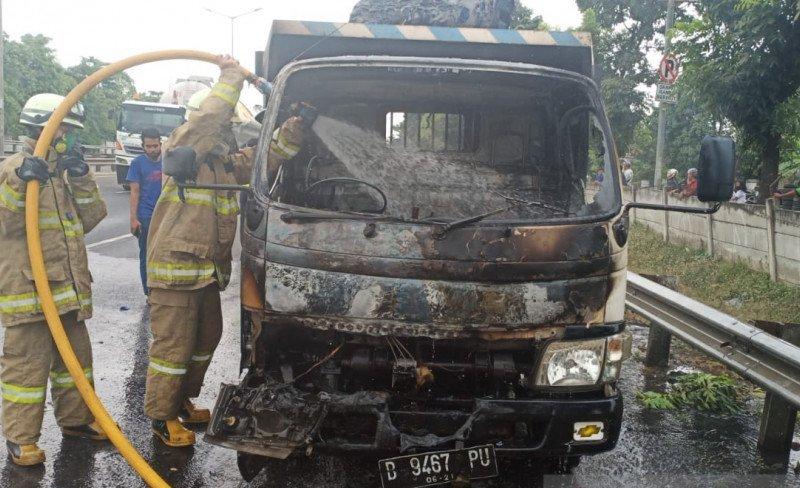
<svg viewBox="0 0 800 488"><path fill-rule="evenodd" d="M247 484L239 476L235 453L204 443L202 434L195 447L184 449L167 449L152 438L142 411L150 336L139 283L138 248L133 237L114 240L128 232L128 193L116 185L113 175L98 180L109 216L87 236L95 281L94 318L88 321L95 386L142 456L174 487L380 486L374 459L322 456L272 463ZM237 270L234 263L235 277ZM235 383L238 378L239 286L235 280L222 295L224 333L198 402L209 407L220 383ZM634 349L642 348L647 329L629 329L634 333ZM646 411L636 403L636 391L663 388L666 375L646 371L636 356L623 368L624 424L614 451L584 458L571 479L546 477L534 463L502 463L502 478L474 486L800 487L800 477L791 469L771 469L756 454L760 399L749 399L747 408L734 416ZM673 361L671 366L680 364ZM0 487L144 486L109 443L62 438L49 398L39 445L47 453L43 467L19 468L0 456ZM791 466L797 463L800 453L794 452Z"/></svg>

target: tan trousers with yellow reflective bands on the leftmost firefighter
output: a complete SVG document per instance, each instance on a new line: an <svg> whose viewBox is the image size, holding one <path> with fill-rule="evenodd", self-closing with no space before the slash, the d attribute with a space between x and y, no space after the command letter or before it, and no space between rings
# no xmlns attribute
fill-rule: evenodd
<svg viewBox="0 0 800 488"><path fill-rule="evenodd" d="M92 382L92 344L86 324L71 312L61 316L84 374ZM39 440L44 417L47 378L56 422L77 427L94 420L75 382L67 372L47 323L34 322L4 327L0 381L3 393L3 435L15 444Z"/></svg>

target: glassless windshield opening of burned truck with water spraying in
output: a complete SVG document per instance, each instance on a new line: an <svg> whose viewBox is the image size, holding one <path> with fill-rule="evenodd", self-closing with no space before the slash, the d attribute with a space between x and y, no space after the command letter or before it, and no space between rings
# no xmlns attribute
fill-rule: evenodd
<svg viewBox="0 0 800 488"><path fill-rule="evenodd" d="M431 221L512 204L485 223L599 218L618 208L610 138L582 84L502 72L355 71L291 76L265 134L297 102L319 116L277 182L262 171L274 200L378 213L377 187L388 200L384 215ZM594 182L599 168L605 181ZM589 184L600 188L587 199Z"/></svg>

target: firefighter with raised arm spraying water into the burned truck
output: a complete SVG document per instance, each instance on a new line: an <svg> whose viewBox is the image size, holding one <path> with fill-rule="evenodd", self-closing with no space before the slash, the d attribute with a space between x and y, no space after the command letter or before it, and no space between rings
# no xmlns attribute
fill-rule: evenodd
<svg viewBox="0 0 800 488"><path fill-rule="evenodd" d="M231 131L244 76L229 56L221 56L218 64L219 82L164 146L167 179L147 250L153 343L144 410L153 433L171 447L194 444L194 432L184 423L210 419L209 411L195 407L192 399L200 394L222 335L219 294L230 280L239 214L233 191L181 192L176 177L180 173L199 184L235 184L249 181L252 169L253 149L238 152Z"/></svg>

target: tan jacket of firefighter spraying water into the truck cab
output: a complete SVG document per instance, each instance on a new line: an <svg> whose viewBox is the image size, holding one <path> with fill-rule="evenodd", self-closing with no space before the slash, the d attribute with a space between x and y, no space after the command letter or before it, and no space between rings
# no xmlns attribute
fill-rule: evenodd
<svg viewBox="0 0 800 488"><path fill-rule="evenodd" d="M194 149L198 184L250 181L252 148L231 154L236 150L231 117L243 81L238 69L223 70L199 110L192 112L164 145L165 153L178 146ZM225 289L230 281L238 215L237 192L186 188L181 201L174 179L168 177L150 221L148 286L196 290L216 282Z"/></svg>

